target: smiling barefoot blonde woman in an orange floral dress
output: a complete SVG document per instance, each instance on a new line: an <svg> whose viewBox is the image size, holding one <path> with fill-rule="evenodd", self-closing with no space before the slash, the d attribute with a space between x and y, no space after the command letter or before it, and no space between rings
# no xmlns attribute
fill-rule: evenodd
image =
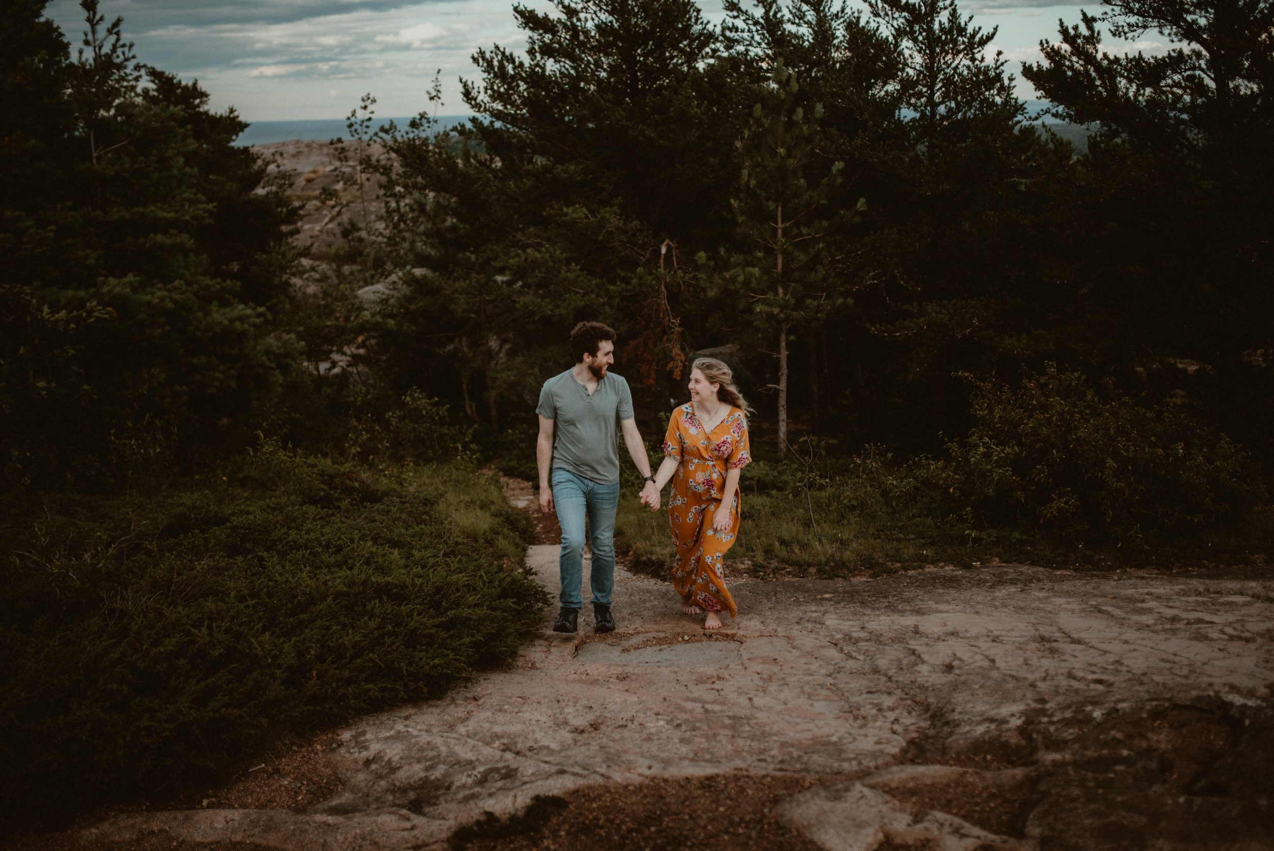
<svg viewBox="0 0 1274 851"><path fill-rule="evenodd" d="M676 547L673 587L682 610L705 610L705 629L720 629L719 611L735 617L725 587L722 559L739 534L739 474L752 460L748 403L734 373L716 358L691 367L691 401L673 410L664 437L664 462L655 475L660 490L676 474L668 516Z"/></svg>

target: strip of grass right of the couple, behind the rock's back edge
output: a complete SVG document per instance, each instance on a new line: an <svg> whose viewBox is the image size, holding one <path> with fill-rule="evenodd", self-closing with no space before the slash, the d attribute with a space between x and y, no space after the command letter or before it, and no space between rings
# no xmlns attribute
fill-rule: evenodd
<svg viewBox="0 0 1274 851"><path fill-rule="evenodd" d="M800 474L796 462L758 461L744 470L743 522L726 557L729 571L759 578L833 578L994 559L1082 569L1274 561L1270 507L1185 538L1140 539L1134 548L1080 535L981 527L958 512L943 511L927 483L888 459L842 462L838 471L826 475L826 485L810 488L808 496ZM650 512L634 499L622 499L615 545L633 569L665 576L674 558L666 510Z"/></svg>

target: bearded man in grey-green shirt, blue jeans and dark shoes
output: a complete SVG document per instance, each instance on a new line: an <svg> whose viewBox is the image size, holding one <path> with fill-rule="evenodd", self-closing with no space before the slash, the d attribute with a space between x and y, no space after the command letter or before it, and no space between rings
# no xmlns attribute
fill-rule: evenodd
<svg viewBox="0 0 1274 851"><path fill-rule="evenodd" d="M641 503L659 508L659 490L650 474L646 445L633 419L633 397L622 376L608 372L615 362L615 333L601 322L580 322L571 331L576 364L553 376L540 390L540 436L535 460L540 468L540 511L557 511L562 526L561 604L554 632L575 632L583 601L585 525L592 548L592 615L596 632L613 632L610 591L615 578L615 508L619 506L619 441L645 476ZM617 429L618 427L618 429ZM555 432L555 434L554 434Z"/></svg>

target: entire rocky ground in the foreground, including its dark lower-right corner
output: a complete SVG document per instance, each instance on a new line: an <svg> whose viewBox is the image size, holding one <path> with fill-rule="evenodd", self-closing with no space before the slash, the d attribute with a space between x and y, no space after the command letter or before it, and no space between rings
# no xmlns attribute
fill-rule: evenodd
<svg viewBox="0 0 1274 851"><path fill-rule="evenodd" d="M555 590L554 545L527 563ZM441 848L547 795L470 847L1274 847L1269 580L999 566L734 591L710 636L619 571L618 632L559 636L545 610L510 669L340 730L324 800L80 840Z"/></svg>

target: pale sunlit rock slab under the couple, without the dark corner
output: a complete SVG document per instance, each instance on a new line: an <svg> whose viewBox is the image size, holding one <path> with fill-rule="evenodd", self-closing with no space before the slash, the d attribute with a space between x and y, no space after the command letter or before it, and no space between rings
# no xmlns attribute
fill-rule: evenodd
<svg viewBox="0 0 1274 851"><path fill-rule="evenodd" d="M527 563L555 592L557 547L530 548ZM456 827L515 813L539 794L743 771L862 778L792 799L791 818L829 848L871 847L878 834L1026 848L1027 840L916 809L907 790L920 781L889 767L1013 772L1049 758L1020 733L1028 720L1200 693L1259 704L1274 682L1274 596L1263 582L1020 566L739 582L734 631L708 640L669 585L626 571L615 578L618 632L595 636L581 618L580 634L545 631L515 664L441 699L340 730L330 758L344 787L306 812L138 814L90 836L162 828L296 851L441 848ZM952 785L950 766L927 769L927 782ZM1022 780L978 777L987 790ZM1055 813L1068 800L1059 787ZM1033 836L1065 818L1042 813ZM851 834L859 845L846 845Z"/></svg>

